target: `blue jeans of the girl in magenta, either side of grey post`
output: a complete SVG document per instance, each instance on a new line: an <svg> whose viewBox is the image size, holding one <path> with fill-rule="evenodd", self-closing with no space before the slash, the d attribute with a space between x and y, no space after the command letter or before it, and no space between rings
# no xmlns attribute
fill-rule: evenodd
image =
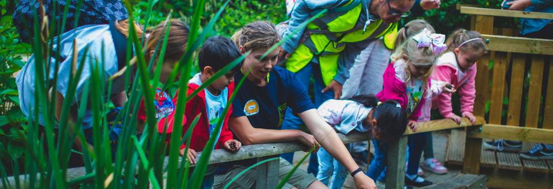
<svg viewBox="0 0 553 189"><path fill-rule="evenodd" d="M386 154L388 153L388 143L379 140L373 140L374 159L367 170L367 176L375 180L385 180ZM420 156L422 149L426 144L426 133L416 133L407 136L407 145L409 146L409 158L407 166L408 175L416 175L419 170Z"/></svg>

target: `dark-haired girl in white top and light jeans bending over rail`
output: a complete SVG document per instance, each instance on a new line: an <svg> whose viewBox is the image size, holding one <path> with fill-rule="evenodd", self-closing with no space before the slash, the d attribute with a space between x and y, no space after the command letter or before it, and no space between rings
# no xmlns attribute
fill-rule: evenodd
<svg viewBox="0 0 553 189"><path fill-rule="evenodd" d="M353 130L366 132L382 141L399 139L407 127L407 115L393 100L380 102L374 95L353 96L349 100L327 100L319 106L319 114L336 131L347 134ZM369 132L371 131L371 132ZM351 144L346 147L351 149ZM317 152L319 173L317 179L330 188L342 188L347 170L325 148ZM332 179L328 182L330 176Z"/></svg>

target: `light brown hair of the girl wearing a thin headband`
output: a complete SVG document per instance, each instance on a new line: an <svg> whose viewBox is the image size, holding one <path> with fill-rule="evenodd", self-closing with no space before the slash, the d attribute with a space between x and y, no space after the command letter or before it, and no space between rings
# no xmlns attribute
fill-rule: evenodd
<svg viewBox="0 0 553 189"><path fill-rule="evenodd" d="M486 44L483 40L468 41L466 44L463 44L463 46L459 46L463 42L475 38L482 38L482 35L480 35L478 31L467 31L465 29L455 30L446 40L446 45L449 47L447 48L446 52L453 51L455 50L455 48L459 48L459 50L463 52L472 50L478 51L483 55L486 52Z"/></svg>

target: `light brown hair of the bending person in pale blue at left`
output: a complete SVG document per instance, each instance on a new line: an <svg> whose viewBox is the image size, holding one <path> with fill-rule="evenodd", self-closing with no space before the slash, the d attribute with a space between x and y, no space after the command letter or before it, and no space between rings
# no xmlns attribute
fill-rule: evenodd
<svg viewBox="0 0 553 189"><path fill-rule="evenodd" d="M188 44L188 35L190 33L190 28L182 21L177 19L170 20L169 27L169 36L167 39L167 47L165 50L164 60L180 60L184 53L186 52L186 46ZM116 21L115 27L127 38L129 37L129 29L131 28L128 19ZM138 38L142 39L144 35L142 25L135 22L135 30L137 31ZM149 33L148 44L146 45L146 51L144 51L144 57L146 60L151 60L150 51L155 50L158 42L165 37L165 32L167 31L166 23L160 23L155 28L147 28L145 33ZM154 55L154 58L158 58L159 51Z"/></svg>

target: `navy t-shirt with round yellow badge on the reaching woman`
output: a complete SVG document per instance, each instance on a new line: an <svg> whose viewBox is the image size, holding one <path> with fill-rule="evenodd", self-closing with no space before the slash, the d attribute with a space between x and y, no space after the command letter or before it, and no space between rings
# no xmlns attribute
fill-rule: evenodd
<svg viewBox="0 0 553 189"><path fill-rule="evenodd" d="M307 90L294 73L284 68L274 67L269 75L269 82L263 87L259 87L249 79L244 80L236 98L232 101L231 116L247 116L254 128L280 129L286 107L290 107L294 114L315 109ZM234 80L238 82L243 77L244 74L238 72L234 75ZM239 140L236 134L234 139ZM257 159L254 158L221 163L215 174L226 174L234 165L250 166L255 163Z"/></svg>

